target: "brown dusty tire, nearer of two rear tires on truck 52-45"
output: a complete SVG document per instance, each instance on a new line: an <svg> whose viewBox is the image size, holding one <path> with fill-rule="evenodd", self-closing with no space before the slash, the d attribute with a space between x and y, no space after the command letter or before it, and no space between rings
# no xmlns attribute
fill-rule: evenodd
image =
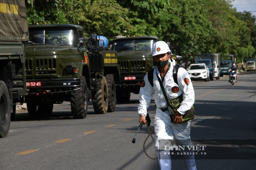
<svg viewBox="0 0 256 170"><path fill-rule="evenodd" d="M92 98L95 113L107 113L108 111L108 84L105 77L102 77L101 87Z"/></svg>

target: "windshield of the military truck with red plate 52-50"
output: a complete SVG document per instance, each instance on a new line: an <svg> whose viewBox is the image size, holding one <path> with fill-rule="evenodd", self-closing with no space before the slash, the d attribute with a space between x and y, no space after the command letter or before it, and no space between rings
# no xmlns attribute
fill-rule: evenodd
<svg viewBox="0 0 256 170"><path fill-rule="evenodd" d="M114 51L151 51L155 40L123 40L113 44Z"/></svg>

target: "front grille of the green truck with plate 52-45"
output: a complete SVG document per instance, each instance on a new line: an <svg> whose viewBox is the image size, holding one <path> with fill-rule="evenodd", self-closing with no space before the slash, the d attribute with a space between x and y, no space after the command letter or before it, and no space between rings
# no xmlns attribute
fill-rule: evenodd
<svg viewBox="0 0 256 170"><path fill-rule="evenodd" d="M32 63L35 62L35 63ZM35 68L33 67L35 66ZM26 75L35 74L56 74L56 59L27 59L25 63Z"/></svg>

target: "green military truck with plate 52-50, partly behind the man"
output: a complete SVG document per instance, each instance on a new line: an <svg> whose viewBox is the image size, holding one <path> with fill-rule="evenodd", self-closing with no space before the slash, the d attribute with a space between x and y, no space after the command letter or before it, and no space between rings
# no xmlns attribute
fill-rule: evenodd
<svg viewBox="0 0 256 170"><path fill-rule="evenodd" d="M158 37L122 37L113 40L112 50L117 51L121 70L121 84L116 83L117 101L130 101L130 94L139 94L147 72L154 67L152 47Z"/></svg>

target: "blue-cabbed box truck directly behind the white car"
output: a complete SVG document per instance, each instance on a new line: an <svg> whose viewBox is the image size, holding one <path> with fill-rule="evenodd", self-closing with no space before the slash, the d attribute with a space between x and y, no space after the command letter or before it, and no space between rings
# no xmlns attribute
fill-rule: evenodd
<svg viewBox="0 0 256 170"><path fill-rule="evenodd" d="M210 71L210 80L219 80L220 77L220 55L219 53L215 54L200 54L196 55L195 58L195 63L204 63L208 67Z"/></svg>

